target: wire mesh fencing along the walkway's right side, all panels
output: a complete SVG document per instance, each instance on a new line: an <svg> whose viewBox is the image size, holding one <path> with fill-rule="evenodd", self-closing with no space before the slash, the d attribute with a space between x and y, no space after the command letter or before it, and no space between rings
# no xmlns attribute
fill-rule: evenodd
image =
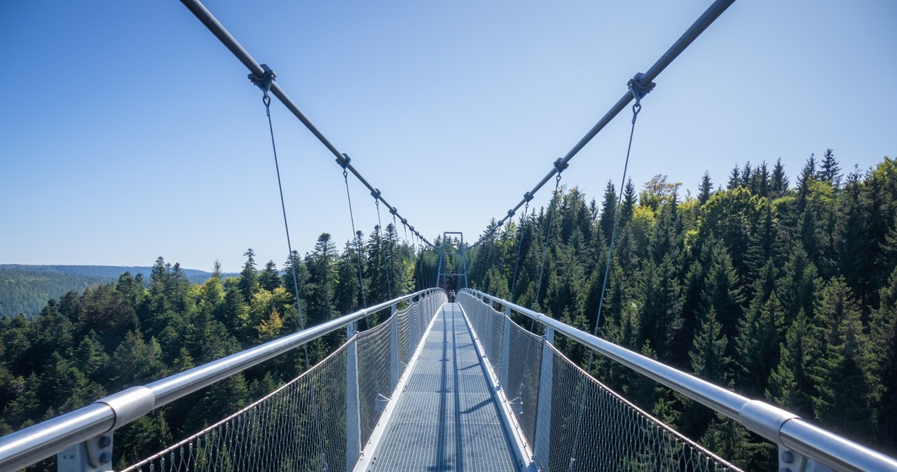
<svg viewBox="0 0 897 472"><path fill-rule="evenodd" d="M544 457L535 458L540 470L738 470L597 382L551 345L551 408L538 411L544 338L475 296L460 293L457 301L490 365L506 382L502 388L527 448L543 450L536 449L536 441L548 444ZM509 339L503 339L506 320ZM551 422L536 438L539 416Z"/></svg>

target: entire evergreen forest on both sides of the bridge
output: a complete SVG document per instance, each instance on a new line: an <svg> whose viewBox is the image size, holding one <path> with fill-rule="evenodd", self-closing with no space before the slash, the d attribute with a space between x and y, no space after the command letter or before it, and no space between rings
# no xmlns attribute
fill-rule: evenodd
<svg viewBox="0 0 897 472"><path fill-rule="evenodd" d="M897 161L844 173L826 150L806 161L793 184L780 162L737 166L725 184L707 173L695 182L694 195L681 194L682 184L666 176L624 185L600 318L618 197L611 182L600 203L561 187L547 208L527 207L490 234L493 221L483 232L489 236L466 251L468 279L893 454ZM273 261L259 267L249 249L238 277L224 277L216 264L202 284L160 257L149 280L126 272L115 283L51 300L34 320L4 317L0 435L301 324L431 287L439 253L415 243L394 224L366 238L359 231L341 249L323 233L311 251L293 252L280 268ZM448 262L448 271L457 271L457 257ZM339 335L315 341L312 364L341 342ZM588 367L579 345L558 339L558 346ZM304 369L301 356L258 365L119 430L116 466L292 379ZM740 426L606 361L591 370L736 465L770 468L774 448Z"/></svg>

